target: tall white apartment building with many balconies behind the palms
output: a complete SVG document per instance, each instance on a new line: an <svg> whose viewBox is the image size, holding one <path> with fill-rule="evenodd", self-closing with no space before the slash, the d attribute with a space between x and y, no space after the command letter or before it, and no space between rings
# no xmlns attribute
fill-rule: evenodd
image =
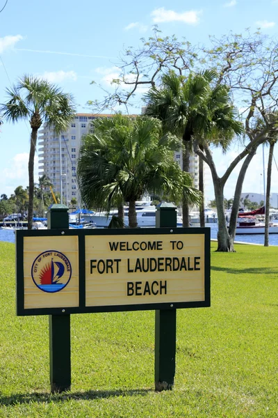
<svg viewBox="0 0 278 418"><path fill-rule="evenodd" d="M101 115L101 117L112 116L111 114ZM67 206L69 206L73 197L81 205L76 180L76 161L79 157L83 135L89 132L91 122L99 117L99 114L76 114L67 131L60 135L56 135L45 124L39 131L39 176L45 174L49 177L54 186L54 192L61 194L62 185L63 203ZM182 153L176 152L174 159L182 167ZM197 188L199 185L199 159L195 154L190 157L190 173L194 179L194 187Z"/></svg>

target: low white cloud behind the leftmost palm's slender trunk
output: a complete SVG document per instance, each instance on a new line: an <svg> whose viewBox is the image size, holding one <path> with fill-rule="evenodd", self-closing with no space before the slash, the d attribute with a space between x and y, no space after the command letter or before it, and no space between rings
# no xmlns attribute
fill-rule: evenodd
<svg viewBox="0 0 278 418"><path fill-rule="evenodd" d="M3 169L6 187L11 187L14 190L17 186L22 185L25 188L28 185L28 160L29 154L22 153L16 154L9 161L9 168ZM35 183L38 183L38 155L35 155L34 160L34 176Z"/></svg>

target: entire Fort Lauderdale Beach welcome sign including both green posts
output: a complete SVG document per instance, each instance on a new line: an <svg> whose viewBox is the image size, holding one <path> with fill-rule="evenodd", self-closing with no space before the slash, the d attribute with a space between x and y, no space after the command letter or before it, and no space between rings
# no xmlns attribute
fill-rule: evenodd
<svg viewBox="0 0 278 418"><path fill-rule="evenodd" d="M51 391L70 390L70 314L155 310L155 387L174 385L176 313L210 306L210 229L177 228L161 205L155 229L17 231L17 315L49 315Z"/></svg>

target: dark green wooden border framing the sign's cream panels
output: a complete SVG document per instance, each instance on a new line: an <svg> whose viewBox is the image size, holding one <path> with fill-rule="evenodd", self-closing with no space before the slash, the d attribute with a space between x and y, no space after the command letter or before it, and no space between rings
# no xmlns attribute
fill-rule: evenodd
<svg viewBox="0 0 278 418"><path fill-rule="evenodd" d="M204 301L127 304L101 307L85 306L85 236L86 235L195 235L204 234ZM79 307L24 309L24 237L78 236L79 238ZM211 306L211 229L210 228L144 228L144 229L47 229L16 231L17 316L89 314L96 312L145 311L155 309L199 308Z"/></svg>

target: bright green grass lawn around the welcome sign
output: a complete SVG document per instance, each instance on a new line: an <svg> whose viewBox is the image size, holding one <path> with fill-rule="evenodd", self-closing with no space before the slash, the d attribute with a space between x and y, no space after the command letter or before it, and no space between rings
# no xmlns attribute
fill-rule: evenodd
<svg viewBox="0 0 278 418"><path fill-rule="evenodd" d="M51 395L48 317L15 316L0 242L0 417L278 417L278 248L211 245L211 307L177 313L172 391L154 392L154 311L139 311L72 315L72 389Z"/></svg>

